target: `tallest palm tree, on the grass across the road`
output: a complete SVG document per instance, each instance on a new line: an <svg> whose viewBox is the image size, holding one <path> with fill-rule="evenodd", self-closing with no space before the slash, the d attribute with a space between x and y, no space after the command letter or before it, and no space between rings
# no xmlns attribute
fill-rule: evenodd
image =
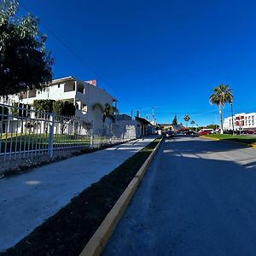
<svg viewBox="0 0 256 256"><path fill-rule="evenodd" d="M226 102L232 102L233 95L229 85L219 84L218 87L212 89L213 93L210 96L210 102L218 106L220 119L220 133L223 133L223 118L222 109Z"/></svg>

